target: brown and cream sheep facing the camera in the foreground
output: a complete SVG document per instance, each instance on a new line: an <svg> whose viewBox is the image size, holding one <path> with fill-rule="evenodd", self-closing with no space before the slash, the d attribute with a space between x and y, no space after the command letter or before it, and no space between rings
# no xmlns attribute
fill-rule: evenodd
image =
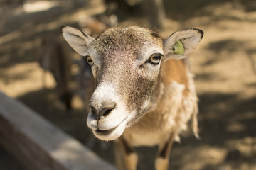
<svg viewBox="0 0 256 170"><path fill-rule="evenodd" d="M87 125L100 140L114 140L118 169L137 169L134 147L159 145L157 170L192 120L198 135L197 96L186 57L203 37L178 30L164 42L148 28L110 28L98 38L65 26L65 40L85 56L95 79Z"/></svg>

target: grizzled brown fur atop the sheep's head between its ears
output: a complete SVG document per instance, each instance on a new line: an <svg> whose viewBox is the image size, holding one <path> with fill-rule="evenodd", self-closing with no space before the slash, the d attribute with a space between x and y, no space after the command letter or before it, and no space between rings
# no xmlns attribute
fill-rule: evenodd
<svg viewBox="0 0 256 170"><path fill-rule="evenodd" d="M129 26L107 29L90 46L97 50L100 53L99 55L102 53L107 55L107 53L117 51L136 53L142 50L142 47L152 44L162 47L162 40L155 30Z"/></svg>

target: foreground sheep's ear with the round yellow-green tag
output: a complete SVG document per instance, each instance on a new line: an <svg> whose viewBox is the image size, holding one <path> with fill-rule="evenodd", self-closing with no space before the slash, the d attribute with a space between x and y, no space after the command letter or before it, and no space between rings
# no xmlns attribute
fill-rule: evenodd
<svg viewBox="0 0 256 170"><path fill-rule="evenodd" d="M164 59L183 59L188 57L203 38L203 31L185 29L174 32L164 41Z"/></svg>

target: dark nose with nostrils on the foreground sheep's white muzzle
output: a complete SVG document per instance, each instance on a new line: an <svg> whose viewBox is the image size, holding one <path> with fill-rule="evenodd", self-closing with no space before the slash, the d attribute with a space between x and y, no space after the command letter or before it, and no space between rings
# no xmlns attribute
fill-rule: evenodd
<svg viewBox="0 0 256 170"><path fill-rule="evenodd" d="M90 105L92 115L95 116L95 119L100 120L101 118L105 118L110 112L115 108L115 102L105 102L102 103L100 107L95 107Z"/></svg>

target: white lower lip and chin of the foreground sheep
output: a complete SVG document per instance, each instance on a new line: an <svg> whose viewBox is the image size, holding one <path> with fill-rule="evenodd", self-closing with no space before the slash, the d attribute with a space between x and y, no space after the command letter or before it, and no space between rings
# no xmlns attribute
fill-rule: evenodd
<svg viewBox="0 0 256 170"><path fill-rule="evenodd" d="M127 118L122 120L122 122L117 125L115 128L112 128L110 130L92 130L93 134L95 137L99 138L100 140L116 140L118 137L122 135L125 129L125 125L127 123Z"/></svg>

